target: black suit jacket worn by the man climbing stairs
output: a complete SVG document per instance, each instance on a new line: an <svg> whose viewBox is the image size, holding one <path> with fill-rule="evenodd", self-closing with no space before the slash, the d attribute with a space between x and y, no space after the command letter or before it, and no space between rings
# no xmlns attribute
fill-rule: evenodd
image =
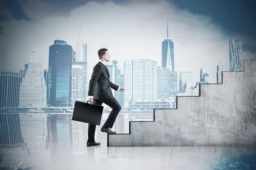
<svg viewBox="0 0 256 170"><path fill-rule="evenodd" d="M93 96L93 99L113 98L111 88L117 91L119 86L109 81L109 78L108 68L101 62L97 63L89 82L88 96Z"/></svg>

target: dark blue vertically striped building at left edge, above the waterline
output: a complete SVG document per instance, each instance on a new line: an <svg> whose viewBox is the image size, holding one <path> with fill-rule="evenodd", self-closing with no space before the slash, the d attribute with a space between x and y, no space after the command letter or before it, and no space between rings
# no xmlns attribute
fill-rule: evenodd
<svg viewBox="0 0 256 170"><path fill-rule="evenodd" d="M20 73L0 72L0 107L19 107Z"/></svg>

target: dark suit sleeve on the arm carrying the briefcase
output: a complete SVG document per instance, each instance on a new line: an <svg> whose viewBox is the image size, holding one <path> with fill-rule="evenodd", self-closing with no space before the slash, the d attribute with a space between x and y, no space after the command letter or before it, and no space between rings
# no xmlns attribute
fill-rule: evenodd
<svg viewBox="0 0 256 170"><path fill-rule="evenodd" d="M103 69L104 67L101 64L97 64L93 68L93 74L89 82L88 96L93 96L96 82L98 81Z"/></svg>

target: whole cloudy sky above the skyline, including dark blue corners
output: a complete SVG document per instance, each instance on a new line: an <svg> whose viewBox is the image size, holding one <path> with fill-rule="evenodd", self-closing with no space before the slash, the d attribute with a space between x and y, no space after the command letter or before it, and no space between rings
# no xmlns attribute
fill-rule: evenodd
<svg viewBox="0 0 256 170"><path fill-rule="evenodd" d="M168 21L175 70L194 72L196 82L204 67L209 83L216 83L219 60L229 71L229 39L242 40L243 59L256 59L255 16L252 0L3 0L0 70L23 69L30 48L48 68L49 46L58 39L76 49L80 25L89 77L101 44L119 64L145 58L160 66Z"/></svg>

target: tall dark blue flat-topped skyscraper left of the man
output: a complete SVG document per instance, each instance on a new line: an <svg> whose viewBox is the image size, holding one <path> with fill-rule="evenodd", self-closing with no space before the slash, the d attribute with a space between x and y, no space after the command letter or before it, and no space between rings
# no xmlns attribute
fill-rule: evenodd
<svg viewBox="0 0 256 170"><path fill-rule="evenodd" d="M71 106L72 46L55 40L49 47L47 104L53 107Z"/></svg>

